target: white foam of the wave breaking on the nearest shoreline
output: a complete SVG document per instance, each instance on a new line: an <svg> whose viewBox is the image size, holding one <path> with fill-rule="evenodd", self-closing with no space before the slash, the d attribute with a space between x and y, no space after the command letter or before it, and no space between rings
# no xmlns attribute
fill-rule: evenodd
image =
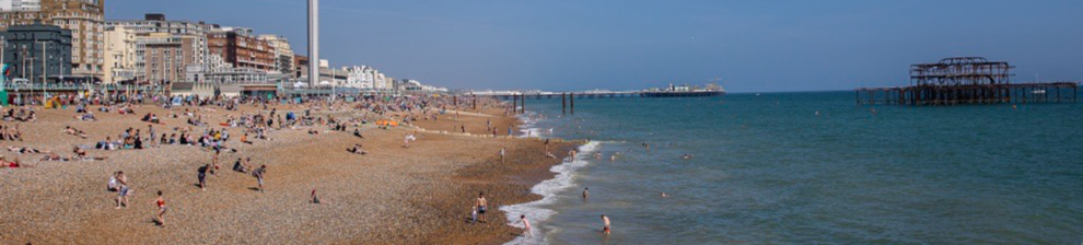
<svg viewBox="0 0 1083 245"><path fill-rule="evenodd" d="M504 206L500 208L501 211L506 213L509 225L523 228L523 224L519 222L519 217L526 215L526 219L529 220L531 224L534 226L534 229L531 230L531 237L521 235L515 237L515 240L508 242L508 244L547 244L545 234L543 234L538 228L542 226L546 220L549 220L552 214L557 214L557 211L543 208L542 206L550 205L557 201L557 192L572 187L574 173L590 163L587 160L594 151L598 150L598 145L599 143L597 141L587 142L586 144L579 147L580 153L577 154L575 159L564 161L563 163L549 168L552 173L557 173L557 176L538 183L531 188L531 192L540 195L542 200Z"/></svg>

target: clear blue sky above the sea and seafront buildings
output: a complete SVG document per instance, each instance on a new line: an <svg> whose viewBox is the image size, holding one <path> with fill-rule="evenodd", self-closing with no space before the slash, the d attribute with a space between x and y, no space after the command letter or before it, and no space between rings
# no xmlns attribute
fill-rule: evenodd
<svg viewBox="0 0 1083 245"><path fill-rule="evenodd" d="M306 54L305 0L107 0L107 20L246 26ZM452 89L730 92L909 84L979 56L1014 81L1083 81L1080 0L321 0L321 58Z"/></svg>

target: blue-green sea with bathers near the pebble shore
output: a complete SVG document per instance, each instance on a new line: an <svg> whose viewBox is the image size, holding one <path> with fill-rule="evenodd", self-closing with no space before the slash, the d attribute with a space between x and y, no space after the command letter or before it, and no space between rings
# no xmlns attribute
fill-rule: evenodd
<svg viewBox="0 0 1083 245"><path fill-rule="evenodd" d="M523 137L590 143L534 186L544 199L501 208L533 226L509 244L1083 244L1081 103L808 92L526 110Z"/></svg>

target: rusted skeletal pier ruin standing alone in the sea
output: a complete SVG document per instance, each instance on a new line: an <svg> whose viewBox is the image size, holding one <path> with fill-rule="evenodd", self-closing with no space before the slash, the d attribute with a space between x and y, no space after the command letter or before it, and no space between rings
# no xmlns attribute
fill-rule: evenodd
<svg viewBox="0 0 1083 245"><path fill-rule="evenodd" d="M859 105L973 105L1002 103L1075 103L1074 82L1012 83L1012 67L980 57L946 58L910 66L910 85L861 88Z"/></svg>

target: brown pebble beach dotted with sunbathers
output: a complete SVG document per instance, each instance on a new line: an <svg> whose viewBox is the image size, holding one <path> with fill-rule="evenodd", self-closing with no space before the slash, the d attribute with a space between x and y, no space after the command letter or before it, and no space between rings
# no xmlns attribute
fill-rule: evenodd
<svg viewBox="0 0 1083 245"><path fill-rule="evenodd" d="M96 109L100 106L90 106ZM206 190L197 185L197 168L209 164L213 151L193 145L150 145L143 150L93 149L106 137L126 128L148 129L140 121L147 113L162 115L154 124L158 135L188 127L185 117L165 117L170 110L150 104L133 107L135 115L94 113L96 121L74 119L67 109L37 110L34 122L19 125L23 141L0 145L31 147L70 155L77 145L90 147L88 155L104 161L39 161L44 154L4 151L7 161L21 160L23 167L0 170L0 243L2 244L501 244L522 231L506 224L499 207L537 200L529 189L551 178L549 168L560 160L546 158L543 140L508 137L517 119L503 109L464 110L440 115L436 120L418 118L412 126L379 129L353 127L333 131L327 126L271 130L268 139L253 144L236 142L242 129L218 126L226 115L267 110L251 104L238 110L221 107L176 107L198 110L213 126L195 131L226 128L236 152L223 151L217 175L207 177ZM279 113L301 113L298 105L272 105ZM8 109L8 108L5 108ZM314 116L357 114L351 109L313 110ZM399 113L398 116L405 115ZM389 116L389 115L385 115ZM388 118L395 118L389 116ZM492 120L500 137L485 133ZM67 135L71 126L88 138ZM451 131L466 127L475 136ZM308 130L318 135L312 135ZM445 131L445 132L441 132ZM517 131L517 130L516 130ZM416 141L404 147L404 138ZM490 135L479 137L476 135ZM362 143L368 154L347 151ZM563 158L571 142L554 142L552 153ZM506 149L501 162L499 151ZM241 158L255 166L266 165L266 191L256 178L230 171ZM27 167L30 165L32 167ZM117 194L106 189L114 172L123 171L132 190L129 207L115 209ZM315 189L322 203L312 203ZM166 224L153 221L152 203L163 191L168 211ZM490 202L488 223L470 223L470 209L478 192Z"/></svg>

